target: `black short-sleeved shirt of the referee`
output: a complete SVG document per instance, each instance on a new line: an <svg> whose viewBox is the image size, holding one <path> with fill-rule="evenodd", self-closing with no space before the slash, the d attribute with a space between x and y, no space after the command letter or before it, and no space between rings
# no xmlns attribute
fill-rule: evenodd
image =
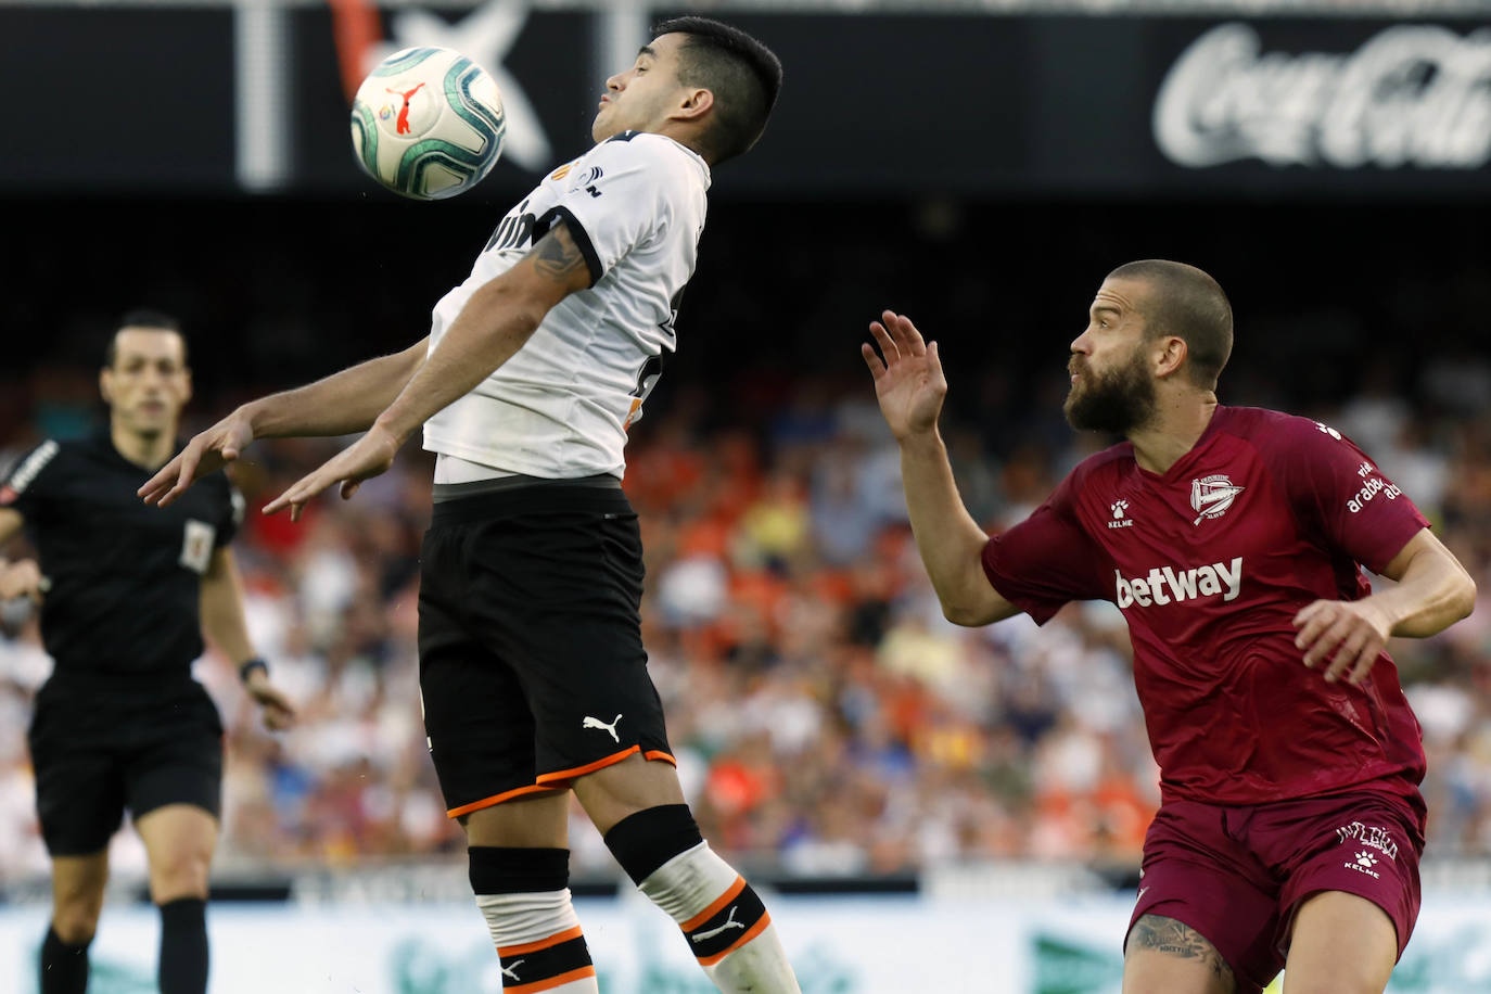
<svg viewBox="0 0 1491 994"><path fill-rule="evenodd" d="M60 675L186 675L201 656L201 577L233 541L243 498L215 472L149 507L136 490L152 475L101 432L42 443L0 486L52 583L42 642Z"/></svg>

